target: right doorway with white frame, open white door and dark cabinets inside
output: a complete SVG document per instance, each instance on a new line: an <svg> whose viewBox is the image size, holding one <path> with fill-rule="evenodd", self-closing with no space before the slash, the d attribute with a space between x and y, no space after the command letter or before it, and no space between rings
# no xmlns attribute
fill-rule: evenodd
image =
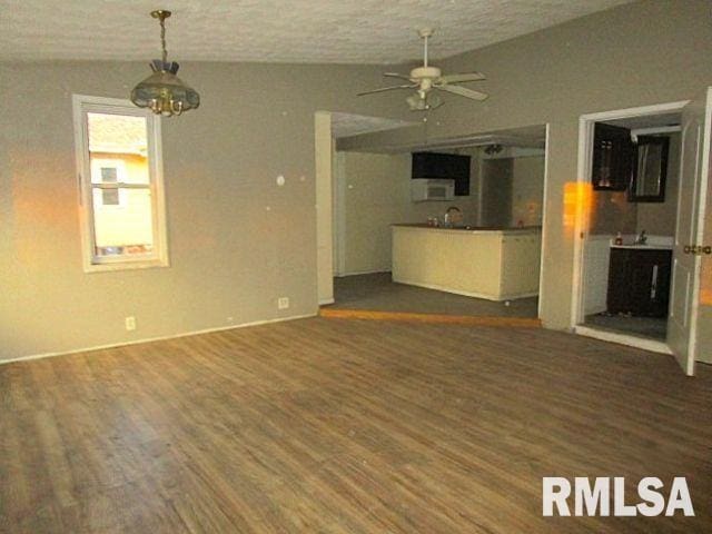
<svg viewBox="0 0 712 534"><path fill-rule="evenodd" d="M674 354L690 375L700 259L690 259L689 244L701 243L704 226L709 91L699 102L581 117L578 189L586 192L572 303L577 334ZM646 176L655 187L641 185Z"/></svg>

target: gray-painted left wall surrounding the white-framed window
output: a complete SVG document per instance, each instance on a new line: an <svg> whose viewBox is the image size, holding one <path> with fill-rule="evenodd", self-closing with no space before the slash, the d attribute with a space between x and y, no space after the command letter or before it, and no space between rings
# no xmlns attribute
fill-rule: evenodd
<svg viewBox="0 0 712 534"><path fill-rule="evenodd" d="M171 266L85 274L71 95L127 98L148 67L0 63L0 359L316 313L314 112L398 118L355 96L383 69L182 65L202 103L164 120Z"/></svg>

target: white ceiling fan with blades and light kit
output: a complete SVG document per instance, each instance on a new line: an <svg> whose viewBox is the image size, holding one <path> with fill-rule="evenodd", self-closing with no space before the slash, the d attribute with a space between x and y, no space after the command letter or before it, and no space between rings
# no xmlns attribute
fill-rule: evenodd
<svg viewBox="0 0 712 534"><path fill-rule="evenodd" d="M458 85L468 81L484 80L484 75L479 72L465 72L443 76L441 69L429 66L427 62L427 40L433 36L433 29L424 28L418 31L418 34L424 41L423 67L413 69L408 76L399 75L397 72L385 72L383 75L387 78L408 80L408 83L382 87L380 89L359 92L359 97L363 95L373 95L375 92L392 91L394 89L415 89L415 93L406 98L406 102L408 102L412 111L435 109L444 103L441 96L433 89L436 89L437 91L452 92L473 100L484 100L487 98L487 95L484 92L474 91Z"/></svg>

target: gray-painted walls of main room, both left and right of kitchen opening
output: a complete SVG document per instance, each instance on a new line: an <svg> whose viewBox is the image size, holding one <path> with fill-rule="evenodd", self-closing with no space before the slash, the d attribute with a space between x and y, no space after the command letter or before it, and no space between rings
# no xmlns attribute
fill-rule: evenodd
<svg viewBox="0 0 712 534"><path fill-rule="evenodd" d="M564 189L576 180L578 117L694 97L712 85L709 50L708 1L654 0L441 62L446 72L485 72L488 80L477 87L492 97L481 103L451 96L432 113L429 137L550 123L545 326L570 325L574 231ZM270 319L279 316L280 295L291 296L290 314L314 313L313 113L412 118L402 95L354 97L378 87L382 70L184 65L204 105L164 130L172 266L85 275L70 95L122 97L146 67L0 66L0 358L227 326L226 317ZM358 142L368 151L422 140L422 129L413 130ZM281 189L277 174L287 176ZM136 333L123 332L126 315L137 316ZM703 315L712 317L710 306Z"/></svg>

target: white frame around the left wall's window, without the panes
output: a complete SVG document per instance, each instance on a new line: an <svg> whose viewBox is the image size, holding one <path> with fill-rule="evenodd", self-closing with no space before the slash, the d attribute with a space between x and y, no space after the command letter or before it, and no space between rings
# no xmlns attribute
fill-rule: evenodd
<svg viewBox="0 0 712 534"><path fill-rule="evenodd" d="M166 228L160 118L147 109L136 107L130 100L118 98L72 95L72 108L77 181L79 188L79 220L85 273L168 267L168 235ZM87 113L89 112L146 118L154 221L154 250L150 253L121 256L98 256L96 254L91 161L89 157L89 131L87 126Z"/></svg>

